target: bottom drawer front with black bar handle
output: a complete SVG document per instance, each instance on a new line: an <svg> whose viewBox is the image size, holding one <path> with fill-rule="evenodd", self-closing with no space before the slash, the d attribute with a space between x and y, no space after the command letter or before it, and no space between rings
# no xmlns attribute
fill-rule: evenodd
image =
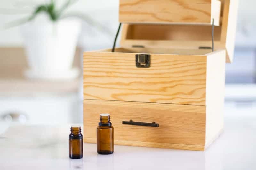
<svg viewBox="0 0 256 170"><path fill-rule="evenodd" d="M205 106L84 100L84 138L96 141L100 113L110 113L115 144L166 147L205 144ZM123 124L123 121L159 127Z"/></svg>

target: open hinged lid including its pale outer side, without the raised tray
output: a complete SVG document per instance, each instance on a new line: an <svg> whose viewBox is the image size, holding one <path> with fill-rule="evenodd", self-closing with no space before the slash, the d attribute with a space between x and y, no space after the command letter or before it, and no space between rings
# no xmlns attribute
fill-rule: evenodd
<svg viewBox="0 0 256 170"><path fill-rule="evenodd" d="M238 0L221 0L220 26L214 26L214 50L226 49L227 63L233 60L237 7ZM212 48L212 25L126 23L122 27L120 44L122 47L139 48Z"/></svg>

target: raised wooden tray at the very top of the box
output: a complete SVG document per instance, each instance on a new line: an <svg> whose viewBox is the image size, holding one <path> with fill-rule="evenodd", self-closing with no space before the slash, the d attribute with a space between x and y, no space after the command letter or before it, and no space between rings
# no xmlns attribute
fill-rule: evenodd
<svg viewBox="0 0 256 170"><path fill-rule="evenodd" d="M219 25L218 0L120 0L119 22Z"/></svg>

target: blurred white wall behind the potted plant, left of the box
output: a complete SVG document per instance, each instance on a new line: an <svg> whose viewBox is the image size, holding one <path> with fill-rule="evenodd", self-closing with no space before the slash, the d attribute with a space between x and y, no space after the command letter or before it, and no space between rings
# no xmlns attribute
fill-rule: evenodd
<svg viewBox="0 0 256 170"><path fill-rule="evenodd" d="M2 29L6 23L28 16L38 4L45 3L45 0L0 0L0 46L21 46L22 37L20 26L9 29ZM60 6L66 0L58 0ZM89 49L95 46L109 46L112 44L114 34L118 26L118 0L79 0L67 12L76 11L90 15L93 20L110 28L111 33L106 35L99 30L83 24L83 32L79 44L88 46Z"/></svg>

